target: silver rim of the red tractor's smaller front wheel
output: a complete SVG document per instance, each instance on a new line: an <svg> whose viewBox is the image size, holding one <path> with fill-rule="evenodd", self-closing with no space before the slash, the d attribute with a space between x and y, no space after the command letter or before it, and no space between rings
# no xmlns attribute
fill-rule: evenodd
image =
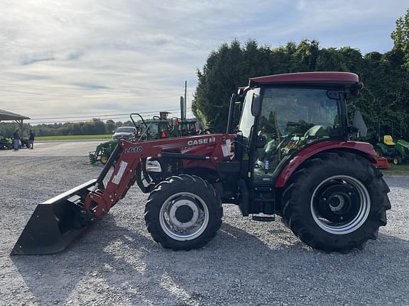
<svg viewBox="0 0 409 306"><path fill-rule="evenodd" d="M187 213L182 214L182 210ZM209 224L209 209L205 201L193 193L175 193L160 207L159 223L170 238L192 240L205 232Z"/></svg>

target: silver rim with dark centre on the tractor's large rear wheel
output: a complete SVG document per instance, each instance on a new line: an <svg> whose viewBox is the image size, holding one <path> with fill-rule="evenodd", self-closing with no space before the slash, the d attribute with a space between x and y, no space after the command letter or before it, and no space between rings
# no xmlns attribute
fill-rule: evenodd
<svg viewBox="0 0 409 306"><path fill-rule="evenodd" d="M310 209L312 218L325 232L349 234L368 218L371 197L358 179L332 176L315 188Z"/></svg>

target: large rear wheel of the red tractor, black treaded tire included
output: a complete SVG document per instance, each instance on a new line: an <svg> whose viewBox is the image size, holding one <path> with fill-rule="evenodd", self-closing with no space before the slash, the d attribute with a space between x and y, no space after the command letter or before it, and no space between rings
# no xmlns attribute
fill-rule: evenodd
<svg viewBox="0 0 409 306"><path fill-rule="evenodd" d="M391 209L381 171L356 154L319 154L293 174L283 193L283 217L314 249L363 249L378 237Z"/></svg>

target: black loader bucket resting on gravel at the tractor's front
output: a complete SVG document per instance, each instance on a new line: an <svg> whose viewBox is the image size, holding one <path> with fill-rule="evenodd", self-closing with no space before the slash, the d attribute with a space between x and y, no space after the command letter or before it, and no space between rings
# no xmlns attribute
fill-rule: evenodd
<svg viewBox="0 0 409 306"><path fill-rule="evenodd" d="M96 179L37 205L11 255L52 254L65 249L95 220L80 203Z"/></svg>

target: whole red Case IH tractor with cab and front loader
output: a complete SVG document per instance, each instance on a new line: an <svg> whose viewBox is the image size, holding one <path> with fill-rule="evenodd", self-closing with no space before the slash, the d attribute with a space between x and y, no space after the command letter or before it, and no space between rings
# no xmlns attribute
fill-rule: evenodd
<svg viewBox="0 0 409 306"><path fill-rule="evenodd" d="M226 134L120 140L98 179L37 206L11 254L65 249L135 182L150 193L146 226L165 248L204 246L222 224L222 203L233 203L254 220L279 215L312 248L362 249L391 203L373 147L350 140L366 130L347 120L361 85L347 72L256 77L241 102L231 99Z"/></svg>

